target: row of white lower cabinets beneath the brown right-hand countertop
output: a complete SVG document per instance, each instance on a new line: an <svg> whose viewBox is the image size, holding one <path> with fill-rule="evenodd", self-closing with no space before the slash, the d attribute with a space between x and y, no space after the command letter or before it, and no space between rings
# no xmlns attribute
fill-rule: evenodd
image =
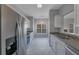
<svg viewBox="0 0 79 59"><path fill-rule="evenodd" d="M51 35L51 47L52 50L55 52L56 55L65 55L65 43L60 41L60 38Z"/></svg>

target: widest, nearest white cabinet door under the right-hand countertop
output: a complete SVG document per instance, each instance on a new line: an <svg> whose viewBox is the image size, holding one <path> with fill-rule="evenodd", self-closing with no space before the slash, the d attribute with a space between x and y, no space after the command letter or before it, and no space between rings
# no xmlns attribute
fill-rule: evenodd
<svg viewBox="0 0 79 59"><path fill-rule="evenodd" d="M65 55L65 44L59 40L56 40L56 54Z"/></svg>

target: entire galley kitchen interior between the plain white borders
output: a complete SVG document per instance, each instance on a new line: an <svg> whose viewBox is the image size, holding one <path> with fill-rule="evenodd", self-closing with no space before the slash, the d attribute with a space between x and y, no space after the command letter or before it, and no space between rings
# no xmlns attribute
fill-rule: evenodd
<svg viewBox="0 0 79 59"><path fill-rule="evenodd" d="M31 50L32 55L78 55L79 4L38 5L1 5L2 54L7 54L10 45L14 44L11 50L15 51L10 55L14 52L15 55L28 55L30 52L27 50ZM14 40L15 37L17 41Z"/></svg>

